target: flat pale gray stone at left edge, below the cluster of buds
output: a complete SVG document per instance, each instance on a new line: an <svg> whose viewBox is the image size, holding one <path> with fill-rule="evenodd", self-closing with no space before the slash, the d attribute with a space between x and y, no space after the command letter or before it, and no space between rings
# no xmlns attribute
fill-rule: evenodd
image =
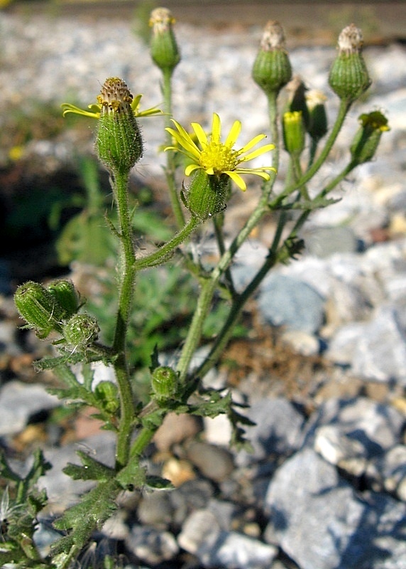
<svg viewBox="0 0 406 569"><path fill-rule="evenodd" d="M60 405L43 385L27 385L10 381L0 391L0 436L13 435L26 427L28 420L40 411Z"/></svg>

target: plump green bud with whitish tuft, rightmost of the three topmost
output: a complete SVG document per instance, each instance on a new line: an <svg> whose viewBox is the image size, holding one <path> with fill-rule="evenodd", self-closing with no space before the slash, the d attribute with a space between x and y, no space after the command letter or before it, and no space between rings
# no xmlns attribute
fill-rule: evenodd
<svg viewBox="0 0 406 569"><path fill-rule="evenodd" d="M339 55L331 66L329 85L340 99L353 102L371 85L371 78L361 54L362 33L351 23L339 35Z"/></svg>

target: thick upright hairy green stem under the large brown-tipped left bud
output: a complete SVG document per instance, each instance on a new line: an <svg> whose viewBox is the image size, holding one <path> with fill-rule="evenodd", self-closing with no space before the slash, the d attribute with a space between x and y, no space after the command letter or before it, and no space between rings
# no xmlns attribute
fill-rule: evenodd
<svg viewBox="0 0 406 569"><path fill-rule="evenodd" d="M131 218L128 208L128 174L116 172L113 186L119 216L119 238L121 240L121 283L113 341L113 349L117 354L114 361L114 371L119 387L121 410L116 447L116 467L119 469L128 462L134 420L133 393L126 356L126 335L133 301L136 255L133 248Z"/></svg>

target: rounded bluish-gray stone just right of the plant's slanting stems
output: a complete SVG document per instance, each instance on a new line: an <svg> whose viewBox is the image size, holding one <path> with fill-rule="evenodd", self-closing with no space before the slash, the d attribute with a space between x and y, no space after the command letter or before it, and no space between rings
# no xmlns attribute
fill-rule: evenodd
<svg viewBox="0 0 406 569"><path fill-rule="evenodd" d="M258 296L265 321L288 330L315 333L322 326L324 299L307 283L278 273L270 274Z"/></svg>

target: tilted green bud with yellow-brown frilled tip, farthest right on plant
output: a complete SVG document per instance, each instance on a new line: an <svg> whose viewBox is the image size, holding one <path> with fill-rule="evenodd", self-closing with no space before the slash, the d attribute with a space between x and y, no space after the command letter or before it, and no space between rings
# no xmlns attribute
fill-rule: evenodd
<svg viewBox="0 0 406 569"><path fill-rule="evenodd" d="M361 128L358 129L351 144L352 164L358 166L373 159L380 137L388 127L388 119L379 111L373 111L359 117Z"/></svg>

